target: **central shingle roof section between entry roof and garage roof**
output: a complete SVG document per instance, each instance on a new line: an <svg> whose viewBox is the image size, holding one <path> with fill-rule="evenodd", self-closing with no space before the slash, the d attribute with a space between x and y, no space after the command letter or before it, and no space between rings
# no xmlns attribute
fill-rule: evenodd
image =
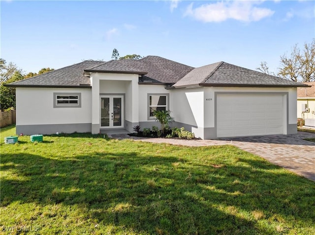
<svg viewBox="0 0 315 235"><path fill-rule="evenodd" d="M148 74L142 76L142 80L163 83L175 83L193 69L191 66L154 55L148 55L137 60L122 59L119 62L140 71L148 72Z"/></svg>

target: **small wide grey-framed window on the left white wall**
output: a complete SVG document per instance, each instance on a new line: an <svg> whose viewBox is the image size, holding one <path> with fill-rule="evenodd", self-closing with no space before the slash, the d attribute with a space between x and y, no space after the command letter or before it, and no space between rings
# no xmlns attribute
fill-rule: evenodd
<svg viewBox="0 0 315 235"><path fill-rule="evenodd" d="M81 107L81 93L54 93L54 108Z"/></svg>

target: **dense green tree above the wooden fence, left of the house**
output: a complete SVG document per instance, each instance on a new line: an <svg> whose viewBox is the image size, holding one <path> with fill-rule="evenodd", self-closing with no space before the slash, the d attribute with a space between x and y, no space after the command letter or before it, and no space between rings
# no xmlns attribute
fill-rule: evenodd
<svg viewBox="0 0 315 235"><path fill-rule="evenodd" d="M10 79L0 84L0 107L1 110L15 108L15 88L6 87L3 84L24 79L20 71L16 70Z"/></svg>

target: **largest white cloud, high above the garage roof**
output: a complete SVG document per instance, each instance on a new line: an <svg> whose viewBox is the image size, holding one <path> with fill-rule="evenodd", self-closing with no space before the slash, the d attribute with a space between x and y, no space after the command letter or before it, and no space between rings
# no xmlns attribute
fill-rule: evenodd
<svg viewBox="0 0 315 235"><path fill-rule="evenodd" d="M222 22L228 19L251 22L272 16L275 12L263 7L256 7L259 2L253 1L221 1L203 4L193 8L189 4L184 16L190 16L202 22Z"/></svg>

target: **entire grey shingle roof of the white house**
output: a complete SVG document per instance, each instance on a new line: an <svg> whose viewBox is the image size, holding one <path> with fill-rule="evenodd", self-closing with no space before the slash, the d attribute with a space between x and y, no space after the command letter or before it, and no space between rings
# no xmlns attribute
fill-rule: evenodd
<svg viewBox="0 0 315 235"><path fill-rule="evenodd" d="M258 87L307 87L297 83L218 62L199 68L177 63L159 56L142 59L83 61L32 78L5 84L11 87L91 87L90 73L127 73L142 75L142 84L167 84L170 88L191 86L258 86Z"/></svg>

